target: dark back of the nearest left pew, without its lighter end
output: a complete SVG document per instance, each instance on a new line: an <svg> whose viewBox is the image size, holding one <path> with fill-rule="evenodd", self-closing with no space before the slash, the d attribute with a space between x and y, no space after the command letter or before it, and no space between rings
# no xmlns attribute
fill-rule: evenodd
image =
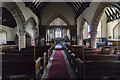
<svg viewBox="0 0 120 80"><path fill-rule="evenodd" d="M28 75L35 77L35 61L33 55L2 55L2 76Z"/></svg>

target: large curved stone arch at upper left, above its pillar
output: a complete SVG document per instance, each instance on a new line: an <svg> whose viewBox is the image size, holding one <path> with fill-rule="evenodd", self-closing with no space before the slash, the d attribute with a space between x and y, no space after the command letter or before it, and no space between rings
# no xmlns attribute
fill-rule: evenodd
<svg viewBox="0 0 120 80"><path fill-rule="evenodd" d="M17 6L15 2L2 2L2 7L7 8L13 17L15 18L15 21L17 23L17 31L18 33L23 33L24 32L24 23L25 23L25 18L23 16L23 13Z"/></svg>

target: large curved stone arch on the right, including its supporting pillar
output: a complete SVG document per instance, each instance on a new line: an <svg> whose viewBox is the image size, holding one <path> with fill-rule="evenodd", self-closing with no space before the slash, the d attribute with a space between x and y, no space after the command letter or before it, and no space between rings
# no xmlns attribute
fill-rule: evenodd
<svg viewBox="0 0 120 80"><path fill-rule="evenodd" d="M101 2L91 21L91 47L96 47L97 27L106 7L111 6L112 2Z"/></svg>

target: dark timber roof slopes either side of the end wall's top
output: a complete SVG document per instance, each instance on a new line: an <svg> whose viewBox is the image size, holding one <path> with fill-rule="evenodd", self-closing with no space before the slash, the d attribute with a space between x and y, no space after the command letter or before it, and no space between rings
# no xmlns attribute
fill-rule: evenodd
<svg viewBox="0 0 120 80"><path fill-rule="evenodd" d="M24 1L24 0L23 0ZM75 12L76 18L90 5L90 2L82 2L84 0L73 0L73 2L66 2ZM38 17L40 12L50 2L42 2L42 0L32 0L25 2L26 7L29 7Z"/></svg>

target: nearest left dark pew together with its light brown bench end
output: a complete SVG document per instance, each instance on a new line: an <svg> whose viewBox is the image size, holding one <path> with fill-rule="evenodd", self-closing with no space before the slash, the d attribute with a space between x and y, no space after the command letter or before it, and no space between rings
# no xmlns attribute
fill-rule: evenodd
<svg viewBox="0 0 120 80"><path fill-rule="evenodd" d="M2 55L2 64L3 64L2 67L5 69L4 71L6 73L8 73L7 75L5 74L4 76L10 76L10 75L33 75L33 71L32 71L32 74L30 74L29 71L31 71L31 70L29 70L29 69L34 69L35 74L33 76L36 77L36 78L38 77L38 74L42 74L42 71L40 71L40 69L42 67L41 64L43 64L43 62L41 62L40 57L37 60L34 61L33 55L4 54L4 56ZM19 66L18 64L22 65L22 67ZM13 71L17 71L17 69L21 69L21 70L23 70L23 72L18 70L17 71L18 73L11 73L10 70L6 69L7 67L9 67L9 69L12 67L11 69L14 69ZM27 67L30 67L30 68L27 68ZM25 72L25 71L28 71L28 72Z"/></svg>

